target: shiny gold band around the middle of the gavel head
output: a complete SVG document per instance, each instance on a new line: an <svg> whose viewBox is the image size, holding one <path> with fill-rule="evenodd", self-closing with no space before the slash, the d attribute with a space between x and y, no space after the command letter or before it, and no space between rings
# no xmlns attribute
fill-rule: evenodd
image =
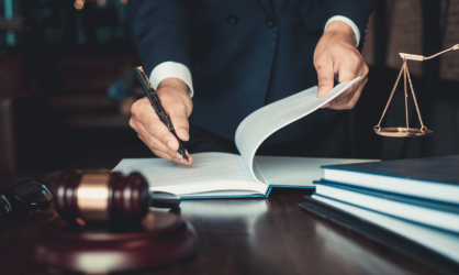
<svg viewBox="0 0 459 275"><path fill-rule="evenodd" d="M85 220L109 221L110 174L85 174L77 190L77 205Z"/></svg>

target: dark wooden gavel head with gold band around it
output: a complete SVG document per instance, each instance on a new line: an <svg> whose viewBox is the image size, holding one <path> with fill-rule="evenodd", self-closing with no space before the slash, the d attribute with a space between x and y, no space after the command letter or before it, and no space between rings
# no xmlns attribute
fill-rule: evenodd
<svg viewBox="0 0 459 275"><path fill-rule="evenodd" d="M148 184L138 173L66 172L57 180L54 195L56 209L66 220L138 221L149 204Z"/></svg>

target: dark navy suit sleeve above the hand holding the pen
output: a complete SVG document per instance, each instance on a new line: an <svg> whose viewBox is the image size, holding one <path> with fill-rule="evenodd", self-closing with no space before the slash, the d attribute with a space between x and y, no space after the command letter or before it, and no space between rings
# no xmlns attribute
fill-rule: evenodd
<svg viewBox="0 0 459 275"><path fill-rule="evenodd" d="M188 2L188 0L128 1L134 38L147 75L160 64L168 64L168 67L171 63L179 64L186 69L190 67Z"/></svg>

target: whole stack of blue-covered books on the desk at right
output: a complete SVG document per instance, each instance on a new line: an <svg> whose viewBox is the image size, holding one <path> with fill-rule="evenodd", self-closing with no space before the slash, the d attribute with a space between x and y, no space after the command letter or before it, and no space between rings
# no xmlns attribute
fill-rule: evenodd
<svg viewBox="0 0 459 275"><path fill-rule="evenodd" d="M459 262L459 156L323 168L313 200Z"/></svg>

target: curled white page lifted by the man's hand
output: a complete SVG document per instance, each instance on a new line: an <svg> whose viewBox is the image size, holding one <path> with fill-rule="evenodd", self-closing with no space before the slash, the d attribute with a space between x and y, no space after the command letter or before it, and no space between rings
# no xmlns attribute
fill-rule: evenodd
<svg viewBox="0 0 459 275"><path fill-rule="evenodd" d="M317 86L272 102L250 113L236 130L236 146L254 178L254 156L261 143L279 129L310 114L332 101L361 77L337 85L326 96L317 98Z"/></svg>

